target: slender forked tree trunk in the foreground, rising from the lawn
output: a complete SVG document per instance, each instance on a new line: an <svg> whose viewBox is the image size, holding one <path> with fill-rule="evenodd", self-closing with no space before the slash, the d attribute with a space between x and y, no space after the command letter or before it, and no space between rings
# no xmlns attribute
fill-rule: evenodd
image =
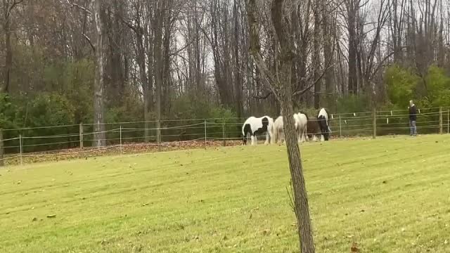
<svg viewBox="0 0 450 253"><path fill-rule="evenodd" d="M250 26L250 37L252 38L250 51L252 52L255 63L264 77L269 79L271 90L281 103L281 111L285 117L285 142L288 150L288 160L290 175L293 181L293 195L295 205L295 216L297 217L298 235L300 238L300 250L303 253L313 253L314 239L311 228L311 219L309 216L309 205L307 198L307 189L304 182L302 160L300 157L300 148L297 142L297 134L295 132L293 115L293 87L291 82L291 71L293 64L293 44L288 36L288 22L285 21L285 5L284 0L273 0L271 3L271 22L276 30L278 37L278 53L279 67L276 68L275 76L271 75L264 63L264 59L257 48L256 39L258 35L257 11L255 0L248 1L248 19Z"/></svg>

